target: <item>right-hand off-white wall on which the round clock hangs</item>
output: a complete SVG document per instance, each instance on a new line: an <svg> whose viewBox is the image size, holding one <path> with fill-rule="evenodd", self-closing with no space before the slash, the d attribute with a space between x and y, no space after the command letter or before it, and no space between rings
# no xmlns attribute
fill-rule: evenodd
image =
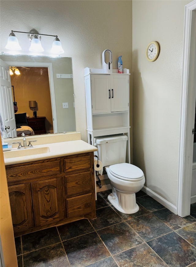
<svg viewBox="0 0 196 267"><path fill-rule="evenodd" d="M191 1L133 1L134 164L146 190L177 205L184 8ZM158 41L160 54L146 59Z"/></svg>

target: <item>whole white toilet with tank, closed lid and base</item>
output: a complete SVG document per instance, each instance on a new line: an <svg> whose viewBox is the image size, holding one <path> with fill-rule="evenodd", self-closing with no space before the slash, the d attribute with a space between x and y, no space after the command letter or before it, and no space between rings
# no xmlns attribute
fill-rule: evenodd
<svg viewBox="0 0 196 267"><path fill-rule="evenodd" d="M118 211L131 214L139 210L135 193L142 189L145 176L140 168L126 163L127 140L123 134L96 136L94 145L111 182L107 199Z"/></svg>

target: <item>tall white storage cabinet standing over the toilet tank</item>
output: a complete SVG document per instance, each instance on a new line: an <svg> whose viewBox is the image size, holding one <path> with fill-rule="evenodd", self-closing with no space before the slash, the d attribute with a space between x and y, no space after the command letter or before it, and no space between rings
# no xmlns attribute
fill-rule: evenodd
<svg viewBox="0 0 196 267"><path fill-rule="evenodd" d="M96 136L126 134L130 163L129 70L102 71L85 68L88 143L94 145Z"/></svg>

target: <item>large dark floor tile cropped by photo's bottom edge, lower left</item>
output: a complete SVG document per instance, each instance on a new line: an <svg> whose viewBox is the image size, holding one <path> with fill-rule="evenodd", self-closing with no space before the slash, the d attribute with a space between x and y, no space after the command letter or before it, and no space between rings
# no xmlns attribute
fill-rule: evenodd
<svg viewBox="0 0 196 267"><path fill-rule="evenodd" d="M23 255L24 267L69 267L62 243Z"/></svg>

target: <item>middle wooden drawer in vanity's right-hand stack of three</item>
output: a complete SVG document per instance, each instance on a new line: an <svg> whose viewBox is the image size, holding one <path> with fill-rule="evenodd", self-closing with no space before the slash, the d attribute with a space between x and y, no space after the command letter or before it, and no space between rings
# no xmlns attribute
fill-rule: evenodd
<svg viewBox="0 0 196 267"><path fill-rule="evenodd" d="M89 172L66 175L67 195L83 193L92 189L91 175Z"/></svg>

